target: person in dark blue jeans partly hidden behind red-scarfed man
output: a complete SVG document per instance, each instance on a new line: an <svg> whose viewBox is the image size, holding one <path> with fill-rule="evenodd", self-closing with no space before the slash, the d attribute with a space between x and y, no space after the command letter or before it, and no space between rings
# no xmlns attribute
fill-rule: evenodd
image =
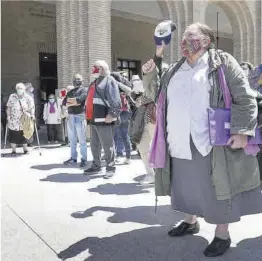
<svg viewBox="0 0 262 261"><path fill-rule="evenodd" d="M123 157L123 147L126 153L126 159L124 164L131 163L131 141L129 137L129 122L131 117L131 109L129 104L129 96L132 91L132 83L123 77L119 72L112 72L111 76L117 81L120 98L121 98L121 113L120 113L120 125L116 126L114 141L116 147L116 162L120 162L120 157Z"/></svg>

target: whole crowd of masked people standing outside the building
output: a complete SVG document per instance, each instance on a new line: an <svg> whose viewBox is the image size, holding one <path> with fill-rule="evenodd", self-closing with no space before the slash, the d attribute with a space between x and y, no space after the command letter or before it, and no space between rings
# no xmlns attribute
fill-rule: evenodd
<svg viewBox="0 0 262 261"><path fill-rule="evenodd" d="M48 141L58 141L57 125L63 124L71 150L64 164L77 164L79 142L84 175L100 172L104 159L104 178L113 177L121 157L124 164L131 163L134 143L145 164L143 184L155 183L156 196L170 196L173 209L186 214L168 235L198 233L197 217L216 225L214 240L204 250L207 257L228 250L230 223L262 213L257 160L261 144L249 142L261 127L262 65L239 64L214 43L207 25L192 24L181 39L183 57L178 62L163 63L164 42L143 65L142 80L133 75L129 81L121 72L110 72L105 61L96 61L88 87L76 74L73 85L59 97L51 94L44 108ZM34 119L34 103L24 84L17 84L16 90L6 105L13 154L16 144L28 151L21 115ZM212 117L225 107L231 116L224 128L230 131L226 142L218 145L211 137L223 133L212 132L213 123L219 122ZM93 155L89 167L88 125Z"/></svg>

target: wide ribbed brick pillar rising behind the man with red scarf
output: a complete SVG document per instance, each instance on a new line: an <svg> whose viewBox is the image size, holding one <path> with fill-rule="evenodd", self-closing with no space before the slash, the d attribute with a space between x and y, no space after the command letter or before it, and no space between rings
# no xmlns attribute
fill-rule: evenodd
<svg viewBox="0 0 262 261"><path fill-rule="evenodd" d="M98 59L111 66L110 8L107 0L56 2L58 88L72 84L75 73L88 86Z"/></svg>

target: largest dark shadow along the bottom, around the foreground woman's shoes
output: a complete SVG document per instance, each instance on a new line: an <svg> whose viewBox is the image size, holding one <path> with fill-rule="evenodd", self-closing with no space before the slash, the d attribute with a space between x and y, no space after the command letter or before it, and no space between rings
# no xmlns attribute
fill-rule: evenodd
<svg viewBox="0 0 262 261"><path fill-rule="evenodd" d="M58 254L62 260L88 250L84 261L208 261L203 251L208 241L200 236L170 238L165 228L148 227L111 237L87 237ZM212 261L262 260L262 236L245 239Z"/></svg>

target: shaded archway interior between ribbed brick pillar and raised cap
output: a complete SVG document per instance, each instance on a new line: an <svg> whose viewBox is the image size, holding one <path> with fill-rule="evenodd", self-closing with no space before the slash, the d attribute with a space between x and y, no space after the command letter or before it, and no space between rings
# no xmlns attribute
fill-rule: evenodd
<svg viewBox="0 0 262 261"><path fill-rule="evenodd" d="M169 19L165 1L117 1L111 4L111 50L113 70L141 74L141 65L155 52L156 25ZM170 62L170 48L165 60Z"/></svg>

